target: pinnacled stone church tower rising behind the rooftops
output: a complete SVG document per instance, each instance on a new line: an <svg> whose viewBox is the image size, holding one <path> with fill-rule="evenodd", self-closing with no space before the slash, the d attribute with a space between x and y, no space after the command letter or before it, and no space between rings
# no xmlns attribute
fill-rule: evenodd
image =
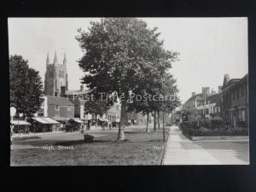
<svg viewBox="0 0 256 192"><path fill-rule="evenodd" d="M63 63L58 62L57 53L53 63L46 58L46 72L44 76L44 93L46 96L64 96L67 90L67 58L64 54Z"/></svg>

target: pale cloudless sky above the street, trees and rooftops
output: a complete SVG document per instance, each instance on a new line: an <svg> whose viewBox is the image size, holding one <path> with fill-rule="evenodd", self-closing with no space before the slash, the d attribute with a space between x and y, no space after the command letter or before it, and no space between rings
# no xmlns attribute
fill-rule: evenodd
<svg viewBox="0 0 256 192"><path fill-rule="evenodd" d="M180 53L170 73L177 79L182 102L204 86L218 91L226 73L236 79L248 72L245 17L139 19L149 28L158 27L165 49ZM55 50L59 62L66 53L68 89L79 90L83 72L77 61L82 51L75 36L80 27L87 31L91 20L100 18L9 18L9 55L22 55L44 82L47 53L50 62Z"/></svg>

